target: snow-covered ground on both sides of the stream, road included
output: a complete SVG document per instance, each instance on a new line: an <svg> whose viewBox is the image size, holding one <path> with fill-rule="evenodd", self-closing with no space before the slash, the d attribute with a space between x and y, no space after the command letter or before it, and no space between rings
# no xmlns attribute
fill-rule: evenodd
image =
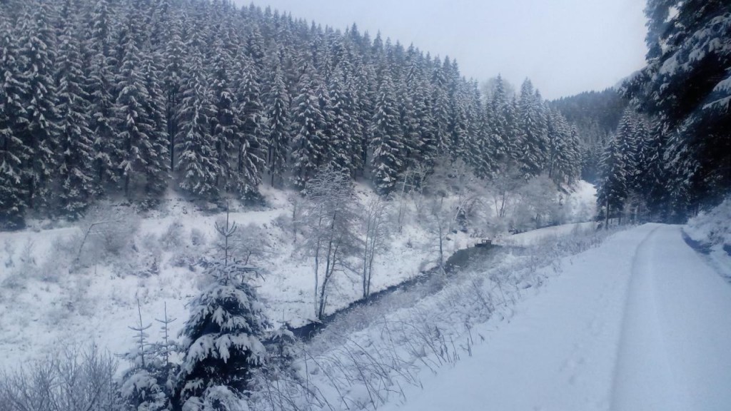
<svg viewBox="0 0 731 411"><path fill-rule="evenodd" d="M372 195L357 192L364 203ZM232 219L267 245L257 263L269 316L303 323L312 317L310 264L290 238L287 193L266 195L270 208L237 209ZM719 267L730 265L698 254L681 235L712 237L714 221L718 227L728 214L708 215L687 227L635 227L603 243L593 223L503 238L524 248L355 309L298 346L295 368L308 390L317 388L304 401L317 397L332 410L727 410L731 284ZM0 233L0 367L72 341L129 350L137 299L145 323L167 304L176 331L201 282L192 263L213 247L220 217L170 199L132 224L134 249L110 257L94 237L82 253L94 264L70 271L85 225ZM429 236L407 222L376 260L374 289L428 268ZM450 235L447 252L474 241ZM727 241L714 245L723 251L718 244ZM357 277L339 276L331 309L359 288ZM290 399L296 393L287 391Z"/></svg>

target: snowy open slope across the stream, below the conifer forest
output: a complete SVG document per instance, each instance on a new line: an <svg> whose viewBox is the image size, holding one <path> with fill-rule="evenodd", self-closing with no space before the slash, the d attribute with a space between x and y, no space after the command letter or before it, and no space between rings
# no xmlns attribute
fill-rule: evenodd
<svg viewBox="0 0 731 411"><path fill-rule="evenodd" d="M230 219L237 223L238 233L254 233L248 241L260 248L251 263L264 273L257 286L268 317L275 324L303 325L314 318L314 279L311 259L298 248L301 233L295 243L289 225L291 199L296 195L263 189L269 208L232 205ZM374 197L363 184L355 190L363 204ZM162 319L167 305L168 316L178 319L171 326L173 333L182 328L186 303L205 281L195 263L215 252L214 223L224 215L173 196L144 218L124 206L107 205L91 214L75 224L34 222L28 230L0 233L0 351L4 352L0 369L42 358L59 344L72 342L94 342L113 353L129 350L134 342L128 327L137 323L137 300L145 325L152 323L155 328L154 319ZM94 229L109 227L109 238L90 235L78 252L89 223L116 220L121 221ZM126 238L129 227L136 228ZM115 246L115 241L120 243ZM107 242L118 248L115 253L105 251L102 243ZM451 234L444 244L445 255L473 243L464 233ZM433 235L413 218L401 233L393 233L388 245L374 262L374 292L435 263ZM77 254L83 260L80 268L74 261ZM334 277L329 287L328 312L347 306L362 293L361 279L350 271ZM151 336L158 334L151 330Z"/></svg>

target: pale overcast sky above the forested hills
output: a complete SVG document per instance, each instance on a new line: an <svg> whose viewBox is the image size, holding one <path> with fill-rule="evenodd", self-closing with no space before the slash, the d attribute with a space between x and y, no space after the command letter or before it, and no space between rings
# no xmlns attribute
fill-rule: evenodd
<svg viewBox="0 0 731 411"><path fill-rule="evenodd" d="M236 0L249 4L249 0ZM601 90L643 67L644 0L254 0L295 18L412 42L463 75L530 78L545 98Z"/></svg>

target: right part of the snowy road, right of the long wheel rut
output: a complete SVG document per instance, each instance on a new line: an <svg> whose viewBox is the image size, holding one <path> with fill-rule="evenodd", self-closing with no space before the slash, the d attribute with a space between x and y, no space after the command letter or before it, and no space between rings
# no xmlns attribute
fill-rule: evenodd
<svg viewBox="0 0 731 411"><path fill-rule="evenodd" d="M612 409L729 410L731 287L656 227L637 247L614 372Z"/></svg>

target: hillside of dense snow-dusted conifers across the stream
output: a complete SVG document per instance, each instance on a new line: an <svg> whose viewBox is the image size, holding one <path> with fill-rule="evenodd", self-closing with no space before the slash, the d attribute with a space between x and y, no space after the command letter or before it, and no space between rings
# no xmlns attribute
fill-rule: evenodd
<svg viewBox="0 0 731 411"><path fill-rule="evenodd" d="M229 1L0 3L0 224L95 200L257 200L329 166L579 175L577 130L526 80L489 99L448 57ZM460 161L458 161L460 160Z"/></svg>

